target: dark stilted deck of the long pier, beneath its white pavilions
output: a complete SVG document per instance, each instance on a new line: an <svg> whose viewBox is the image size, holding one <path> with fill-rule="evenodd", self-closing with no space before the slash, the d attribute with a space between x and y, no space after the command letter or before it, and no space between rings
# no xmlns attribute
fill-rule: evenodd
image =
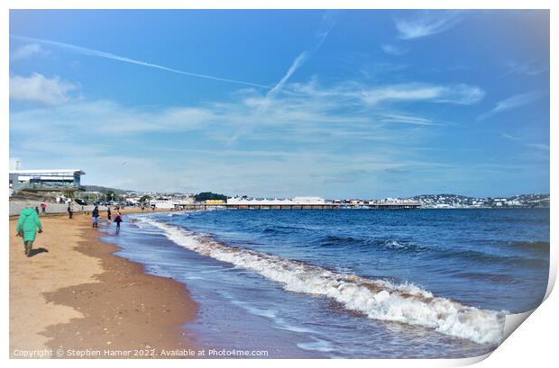
<svg viewBox="0 0 559 368"><path fill-rule="evenodd" d="M324 203L324 204L175 204L175 210L418 210L420 202L372 202L366 204Z"/></svg>

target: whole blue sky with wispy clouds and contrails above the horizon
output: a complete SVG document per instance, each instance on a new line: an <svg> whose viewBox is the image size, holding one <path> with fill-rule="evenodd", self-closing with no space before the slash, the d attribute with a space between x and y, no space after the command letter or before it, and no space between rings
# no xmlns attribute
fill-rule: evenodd
<svg viewBox="0 0 559 368"><path fill-rule="evenodd" d="M549 193L549 13L11 10L10 160L284 198Z"/></svg>

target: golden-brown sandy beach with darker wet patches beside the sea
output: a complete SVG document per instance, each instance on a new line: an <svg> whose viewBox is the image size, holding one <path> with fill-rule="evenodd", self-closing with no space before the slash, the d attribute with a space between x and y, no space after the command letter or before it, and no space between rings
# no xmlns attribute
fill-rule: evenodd
<svg viewBox="0 0 559 368"><path fill-rule="evenodd" d="M15 236L17 219L10 220L10 356L47 349L44 357L89 350L108 358L108 350L142 358L161 357L162 349L194 348L180 328L197 312L186 287L113 256L118 248L100 242L90 221L82 213L72 220L41 217L44 232L27 257L22 238Z"/></svg>

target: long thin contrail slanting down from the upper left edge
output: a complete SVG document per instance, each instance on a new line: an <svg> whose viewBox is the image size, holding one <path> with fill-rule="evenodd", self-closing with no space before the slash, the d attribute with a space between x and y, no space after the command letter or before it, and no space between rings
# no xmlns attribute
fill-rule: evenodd
<svg viewBox="0 0 559 368"><path fill-rule="evenodd" d="M270 89L270 86L268 86L268 85L260 85L260 84L257 84L257 83L247 82L247 81L243 81L243 80L224 78L224 77L221 77L221 76L209 76L209 75L206 75L206 74L193 73L193 72L188 72L188 71L184 71L184 70L179 70L179 69L175 69L175 68L172 68L172 67L164 67L162 65L153 64L153 63L150 63L150 62L147 62L147 61L137 60L137 59L133 59L133 58L126 58L124 56L111 54L109 52L100 51L98 49L87 49L87 48L84 48L84 47L81 47L81 46L78 46L78 45L72 45L72 44L69 44L69 43L59 42L59 41L55 41L55 40L42 40L42 39L35 39L35 38L31 38L31 37L23 37L23 36L17 36L17 35L10 35L10 37L15 39L15 40L31 41L31 42L36 42L36 43L41 43L41 44L46 44L46 45L58 47L60 49L69 49L70 51L78 52L79 54L82 54L82 55L93 56L93 57L98 57L98 58L109 58L109 59L112 59L112 60L121 61L121 62L129 63L129 64L135 64L135 65L139 65L139 66L142 66L142 67L152 67L152 68L164 70L164 71L167 71L167 72L170 72L170 73L180 74L182 76L194 76L194 77L197 77L197 78L212 79L212 80L216 80L216 81L219 81L219 82L234 83L234 84L237 84L237 85L251 85L253 87L261 87L261 88Z"/></svg>

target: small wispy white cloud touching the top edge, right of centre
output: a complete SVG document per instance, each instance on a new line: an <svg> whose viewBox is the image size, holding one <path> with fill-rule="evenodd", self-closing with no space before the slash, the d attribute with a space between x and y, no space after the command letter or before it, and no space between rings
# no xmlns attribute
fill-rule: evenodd
<svg viewBox="0 0 559 368"><path fill-rule="evenodd" d="M458 11L425 11L408 18L395 19L399 39L413 40L447 31L460 22Z"/></svg>

